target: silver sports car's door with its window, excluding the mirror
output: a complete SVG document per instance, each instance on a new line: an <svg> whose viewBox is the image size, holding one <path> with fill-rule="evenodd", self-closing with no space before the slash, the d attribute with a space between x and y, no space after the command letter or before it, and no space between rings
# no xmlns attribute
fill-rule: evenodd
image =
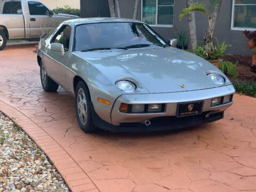
<svg viewBox="0 0 256 192"><path fill-rule="evenodd" d="M66 66L72 50L70 45L72 31L71 26L63 24L46 47L46 57L44 58L47 74L63 88L66 88ZM62 55L60 52L52 51L52 43L62 44L65 54Z"/></svg>

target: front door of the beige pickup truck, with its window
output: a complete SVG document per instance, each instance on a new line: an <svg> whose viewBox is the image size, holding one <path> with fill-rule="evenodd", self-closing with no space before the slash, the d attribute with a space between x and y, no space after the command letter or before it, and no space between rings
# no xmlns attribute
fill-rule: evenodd
<svg viewBox="0 0 256 192"><path fill-rule="evenodd" d="M28 1L30 38L38 38L59 25L49 14L51 10L44 4Z"/></svg>

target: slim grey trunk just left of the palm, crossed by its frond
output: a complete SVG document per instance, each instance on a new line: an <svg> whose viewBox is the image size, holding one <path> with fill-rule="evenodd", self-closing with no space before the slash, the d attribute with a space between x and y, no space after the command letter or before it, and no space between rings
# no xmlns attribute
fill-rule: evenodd
<svg viewBox="0 0 256 192"><path fill-rule="evenodd" d="M193 0L186 0L187 7L193 3ZM190 45L191 48L194 50L197 46L197 35L196 35L196 18L195 12L191 12L188 14L188 28L189 28L189 35L190 35Z"/></svg>

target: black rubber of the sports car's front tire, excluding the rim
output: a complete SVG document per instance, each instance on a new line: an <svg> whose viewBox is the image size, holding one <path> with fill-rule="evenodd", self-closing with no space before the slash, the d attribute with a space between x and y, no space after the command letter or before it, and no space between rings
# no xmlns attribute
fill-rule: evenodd
<svg viewBox="0 0 256 192"><path fill-rule="evenodd" d="M77 109L77 94L78 94L79 89L81 89L81 88L84 90L86 101L87 101L87 114L88 114L88 116L87 116L87 122L86 122L85 125L83 125L81 123L81 120L80 120L79 115L78 115L78 109ZM76 117L77 117L77 121L78 121L79 126L86 133L93 132L95 129L94 129L94 125L93 125L93 121L92 121L92 115L91 115L89 91L87 90L87 87L86 87L85 83L82 82L82 81L78 82L78 84L76 86L76 97L75 97L75 99L76 99L76 101L75 101Z"/></svg>

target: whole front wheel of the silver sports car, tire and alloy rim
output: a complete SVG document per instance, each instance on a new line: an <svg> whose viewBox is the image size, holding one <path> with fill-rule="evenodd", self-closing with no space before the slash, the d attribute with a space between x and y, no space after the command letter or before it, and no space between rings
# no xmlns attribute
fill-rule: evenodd
<svg viewBox="0 0 256 192"><path fill-rule="evenodd" d="M90 109L90 96L84 82L78 82L76 86L76 117L79 126L85 133L95 131Z"/></svg>

